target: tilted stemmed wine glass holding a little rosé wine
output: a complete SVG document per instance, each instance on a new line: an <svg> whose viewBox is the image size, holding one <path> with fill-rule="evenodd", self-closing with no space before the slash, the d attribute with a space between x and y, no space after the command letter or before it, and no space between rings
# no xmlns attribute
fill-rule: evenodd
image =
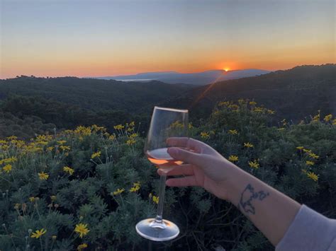
<svg viewBox="0 0 336 251"><path fill-rule="evenodd" d="M179 227L162 218L164 190L169 170L181 165L181 161L174 160L167 152L167 138L172 136L186 136L188 128L188 110L154 107L150 130L145 143L145 154L151 163L162 170L159 185L159 204L157 216L140 221L135 229L143 238L155 241L172 240L179 235Z"/></svg>

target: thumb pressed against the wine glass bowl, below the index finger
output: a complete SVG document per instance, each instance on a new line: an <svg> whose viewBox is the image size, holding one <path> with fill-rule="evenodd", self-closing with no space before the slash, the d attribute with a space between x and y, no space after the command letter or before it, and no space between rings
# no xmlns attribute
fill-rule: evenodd
<svg viewBox="0 0 336 251"><path fill-rule="evenodd" d="M183 162L198 166L206 166L207 157L203 154L194 153L179 147L168 148L168 153L175 160L182 160Z"/></svg>

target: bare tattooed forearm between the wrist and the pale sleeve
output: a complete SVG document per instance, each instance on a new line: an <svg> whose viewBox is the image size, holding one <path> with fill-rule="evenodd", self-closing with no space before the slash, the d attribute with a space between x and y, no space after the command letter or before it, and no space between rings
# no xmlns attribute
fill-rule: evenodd
<svg viewBox="0 0 336 251"><path fill-rule="evenodd" d="M301 205L240 168L229 175L229 201L276 246Z"/></svg>

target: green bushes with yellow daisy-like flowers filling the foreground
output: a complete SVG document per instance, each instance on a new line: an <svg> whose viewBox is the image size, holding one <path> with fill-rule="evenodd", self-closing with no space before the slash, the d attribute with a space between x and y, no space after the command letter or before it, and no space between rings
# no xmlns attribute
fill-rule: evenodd
<svg viewBox="0 0 336 251"><path fill-rule="evenodd" d="M336 218L336 119L274 122L254 101L220 102L189 134L269 185ZM274 126L274 124L278 124ZM30 141L0 139L0 250L274 250L235 206L199 187L167 188L164 218L181 234L150 243L159 178L134 122Z"/></svg>

